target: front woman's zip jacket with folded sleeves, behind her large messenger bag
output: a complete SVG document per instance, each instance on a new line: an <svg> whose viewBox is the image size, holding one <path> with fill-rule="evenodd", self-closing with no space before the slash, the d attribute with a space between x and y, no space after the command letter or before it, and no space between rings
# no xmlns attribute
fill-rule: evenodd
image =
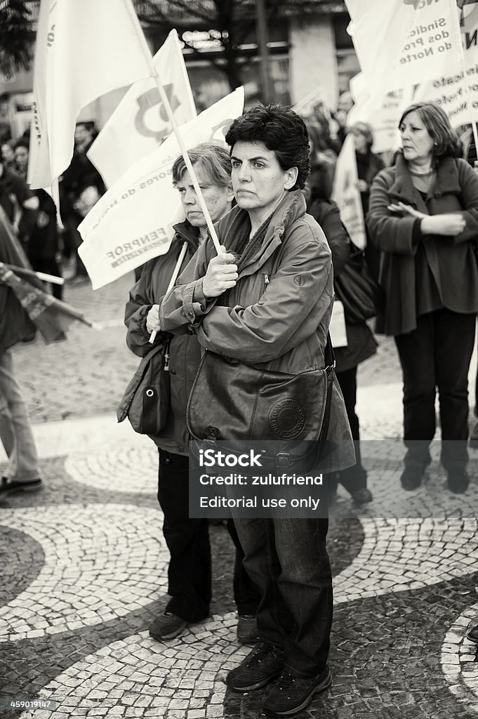
<svg viewBox="0 0 478 719"><path fill-rule="evenodd" d="M220 239L228 236L238 213L245 211L234 207L221 219ZM225 306L203 294L203 277L215 254L211 240L198 249L162 301L161 326L175 332L188 326L202 347L265 370L295 375L324 367L334 303L331 251L316 221L305 214L302 193L288 193L277 207L262 246L242 267L235 287L221 296ZM327 439L344 443L349 433L334 382ZM354 463L351 444L341 446L336 470Z"/></svg>

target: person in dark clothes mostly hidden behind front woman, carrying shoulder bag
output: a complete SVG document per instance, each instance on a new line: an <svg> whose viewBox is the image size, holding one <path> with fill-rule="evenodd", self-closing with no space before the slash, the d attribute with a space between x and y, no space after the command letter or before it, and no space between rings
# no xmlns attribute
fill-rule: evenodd
<svg viewBox="0 0 478 719"><path fill-rule="evenodd" d="M316 184L316 199L308 208L308 212L318 221L327 238L332 251L332 265L334 278L339 277L342 268L351 255L349 234L341 222L339 208L336 203L328 199L325 193L317 196L320 184ZM366 504L372 501L372 493L367 488L367 471L362 466L360 457L360 431L359 418L355 411L357 403L357 366L365 359L372 357L377 351L377 342L367 322L351 324L346 321L346 347L335 347L336 375L344 395L347 418L349 419L351 435L354 439L355 458L357 463L347 467L336 475L328 477L329 495L334 495L337 481L341 483L351 495L356 504Z"/></svg>

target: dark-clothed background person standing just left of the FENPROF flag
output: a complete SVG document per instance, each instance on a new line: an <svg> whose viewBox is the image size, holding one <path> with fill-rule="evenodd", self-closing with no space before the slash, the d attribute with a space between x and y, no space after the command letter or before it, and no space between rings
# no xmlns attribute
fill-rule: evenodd
<svg viewBox="0 0 478 719"><path fill-rule="evenodd" d="M86 267L78 256L82 242L78 225L106 192L100 173L86 157L97 134L94 122L76 123L73 157L60 177L60 214L65 226L63 252L68 260L68 279L88 278Z"/></svg>

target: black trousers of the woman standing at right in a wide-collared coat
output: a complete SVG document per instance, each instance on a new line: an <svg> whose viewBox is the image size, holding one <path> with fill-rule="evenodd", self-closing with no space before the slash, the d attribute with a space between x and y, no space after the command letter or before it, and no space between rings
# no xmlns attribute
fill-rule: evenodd
<svg viewBox="0 0 478 719"><path fill-rule="evenodd" d="M468 370L475 324L474 314L441 309L418 317L416 329L395 337L403 370L405 464L430 461L438 388L441 462L446 470L466 465Z"/></svg>

